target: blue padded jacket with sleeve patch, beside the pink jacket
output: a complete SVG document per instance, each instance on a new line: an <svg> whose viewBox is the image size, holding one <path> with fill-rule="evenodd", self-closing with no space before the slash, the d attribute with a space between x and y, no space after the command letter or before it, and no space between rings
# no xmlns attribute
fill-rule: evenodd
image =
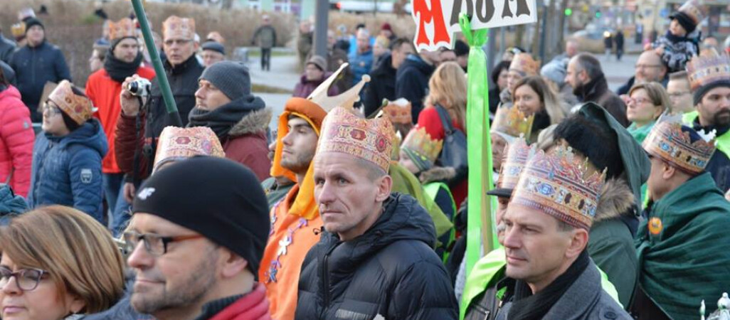
<svg viewBox="0 0 730 320"><path fill-rule="evenodd" d="M108 149L96 119L66 136L39 134L33 147L28 205L72 206L102 222L101 158Z"/></svg>

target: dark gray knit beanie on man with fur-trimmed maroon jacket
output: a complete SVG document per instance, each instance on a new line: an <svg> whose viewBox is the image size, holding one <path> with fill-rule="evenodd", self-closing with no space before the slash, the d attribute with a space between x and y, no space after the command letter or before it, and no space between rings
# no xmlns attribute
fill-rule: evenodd
<svg viewBox="0 0 730 320"><path fill-rule="evenodd" d="M199 80L210 81L231 100L251 94L251 77L248 69L239 62L213 63L203 71Z"/></svg>

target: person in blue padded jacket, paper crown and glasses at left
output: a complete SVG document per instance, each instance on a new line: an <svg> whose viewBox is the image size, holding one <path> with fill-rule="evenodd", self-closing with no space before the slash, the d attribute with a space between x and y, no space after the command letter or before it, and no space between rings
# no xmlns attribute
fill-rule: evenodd
<svg viewBox="0 0 730 320"><path fill-rule="evenodd" d="M107 137L93 119L91 101L71 82L61 81L43 104L43 132L33 149L31 208L59 204L104 222L101 158Z"/></svg>

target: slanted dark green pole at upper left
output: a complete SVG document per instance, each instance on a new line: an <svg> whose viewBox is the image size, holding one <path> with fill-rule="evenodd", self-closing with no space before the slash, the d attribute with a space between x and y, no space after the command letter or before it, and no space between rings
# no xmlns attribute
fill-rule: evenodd
<svg viewBox="0 0 730 320"><path fill-rule="evenodd" d="M180 112L177 112L175 100L174 98L172 98L170 83L167 81L165 69L162 67L162 61L160 60L160 54L157 52L157 47L155 47L155 40L152 37L152 31L150 31L150 23L147 22L145 8L142 7L142 0L131 1L132 7L134 7L134 15L137 15L137 20L139 20L139 26L140 28L142 28L142 36L145 38L147 52L150 53L150 58L152 58L152 66L155 67L157 82L160 85L160 90L162 91L162 98L165 101L167 114L172 120L172 125L176 127L182 127L183 121L180 120Z"/></svg>

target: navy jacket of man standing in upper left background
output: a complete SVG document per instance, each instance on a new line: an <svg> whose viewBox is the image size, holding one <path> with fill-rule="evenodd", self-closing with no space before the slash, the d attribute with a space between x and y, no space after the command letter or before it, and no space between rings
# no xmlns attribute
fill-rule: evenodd
<svg viewBox="0 0 730 320"><path fill-rule="evenodd" d="M44 41L37 47L21 47L15 51L8 64L15 70L23 104L31 109L31 120L40 122L42 116L37 108L45 83L58 83L63 79L71 81L71 72L66 65L64 53L55 45Z"/></svg>

